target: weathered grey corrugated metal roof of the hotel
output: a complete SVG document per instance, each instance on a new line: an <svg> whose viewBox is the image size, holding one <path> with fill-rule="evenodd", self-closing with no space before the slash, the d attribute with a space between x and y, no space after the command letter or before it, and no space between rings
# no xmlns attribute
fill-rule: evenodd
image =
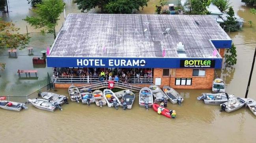
<svg viewBox="0 0 256 143"><path fill-rule="evenodd" d="M50 56L209 58L211 39L230 37L210 15L69 14Z"/></svg>

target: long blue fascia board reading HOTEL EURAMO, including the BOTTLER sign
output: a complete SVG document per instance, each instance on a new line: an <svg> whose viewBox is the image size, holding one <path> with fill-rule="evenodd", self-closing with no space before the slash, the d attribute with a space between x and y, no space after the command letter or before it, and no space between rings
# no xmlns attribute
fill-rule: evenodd
<svg viewBox="0 0 256 143"><path fill-rule="evenodd" d="M184 65L183 65L184 63ZM215 68L222 58L95 58L47 57L48 67L118 67L118 68Z"/></svg>

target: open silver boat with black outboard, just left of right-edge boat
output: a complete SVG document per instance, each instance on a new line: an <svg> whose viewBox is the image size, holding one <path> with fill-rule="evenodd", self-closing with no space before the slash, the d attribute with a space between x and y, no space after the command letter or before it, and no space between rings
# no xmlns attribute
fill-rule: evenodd
<svg viewBox="0 0 256 143"><path fill-rule="evenodd" d="M228 113L233 112L243 107L243 105L245 105L246 102L246 98L236 98L234 100L227 101L225 103L220 104L220 111L225 110Z"/></svg>

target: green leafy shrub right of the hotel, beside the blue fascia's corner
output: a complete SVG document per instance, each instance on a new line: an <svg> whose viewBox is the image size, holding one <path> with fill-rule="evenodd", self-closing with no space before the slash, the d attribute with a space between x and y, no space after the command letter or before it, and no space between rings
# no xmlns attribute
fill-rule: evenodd
<svg viewBox="0 0 256 143"><path fill-rule="evenodd" d="M236 64L236 47L234 43L232 43L232 46L230 49L227 50L226 54L224 55L226 67L231 67L232 65Z"/></svg>

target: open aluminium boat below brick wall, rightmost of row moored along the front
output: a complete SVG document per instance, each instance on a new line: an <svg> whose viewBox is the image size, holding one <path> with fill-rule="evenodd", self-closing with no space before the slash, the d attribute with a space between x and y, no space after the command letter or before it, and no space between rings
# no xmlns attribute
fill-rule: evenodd
<svg viewBox="0 0 256 143"><path fill-rule="evenodd" d="M164 86L163 87L163 91L166 94L166 96L169 98L169 100L172 102L172 104L176 104L176 103L182 103L184 98L182 98L179 95L179 92L177 92L175 89L173 89L172 87L169 86Z"/></svg>

